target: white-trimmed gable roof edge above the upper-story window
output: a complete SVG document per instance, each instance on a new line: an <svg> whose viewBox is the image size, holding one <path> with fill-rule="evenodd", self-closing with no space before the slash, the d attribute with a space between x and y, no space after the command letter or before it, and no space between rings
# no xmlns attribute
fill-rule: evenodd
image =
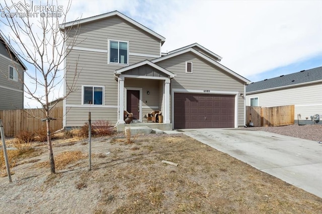
<svg viewBox="0 0 322 214"><path fill-rule="evenodd" d="M73 21L73 22L67 22L67 23L61 24L59 27L60 27L60 30L64 30L65 28L72 27L73 25L80 25L80 24L84 24L84 23L95 22L97 20L108 19L109 17L113 17L113 16L118 16L118 17L122 18L123 20L126 20L127 22L129 22L129 23L133 24L134 26L140 28L141 30L147 32L148 34L160 39L162 44L165 43L165 41L166 41L165 37L155 33L154 31L148 29L147 27L141 25L140 23L132 20L131 18L125 16L124 14L122 14L122 13L120 13L118 11L113 11L113 12L110 12L110 13L101 14L101 15L98 15L98 16L89 17L89 18L85 18L85 19L81 19L81 20L77 20L77 21Z"/></svg>

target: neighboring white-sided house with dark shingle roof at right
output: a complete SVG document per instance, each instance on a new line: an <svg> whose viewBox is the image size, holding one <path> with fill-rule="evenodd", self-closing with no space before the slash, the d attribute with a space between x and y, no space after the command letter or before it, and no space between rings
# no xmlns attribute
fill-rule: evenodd
<svg viewBox="0 0 322 214"><path fill-rule="evenodd" d="M322 115L322 67L253 82L246 87L247 106L292 104L296 123L298 114L302 124L311 124L311 116Z"/></svg>

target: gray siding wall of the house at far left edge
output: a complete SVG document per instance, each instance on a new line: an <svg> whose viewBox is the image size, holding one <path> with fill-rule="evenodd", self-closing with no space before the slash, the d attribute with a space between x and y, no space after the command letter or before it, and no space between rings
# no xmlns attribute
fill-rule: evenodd
<svg viewBox="0 0 322 214"><path fill-rule="evenodd" d="M18 81L9 79L9 65L17 69ZM23 72L20 64L0 55L0 110L24 108Z"/></svg>

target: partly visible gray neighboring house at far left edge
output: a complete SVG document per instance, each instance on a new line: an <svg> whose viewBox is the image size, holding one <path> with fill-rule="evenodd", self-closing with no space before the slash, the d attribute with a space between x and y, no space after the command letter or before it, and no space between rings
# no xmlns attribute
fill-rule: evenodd
<svg viewBox="0 0 322 214"><path fill-rule="evenodd" d="M24 108L24 71L27 67L0 34L0 110Z"/></svg>

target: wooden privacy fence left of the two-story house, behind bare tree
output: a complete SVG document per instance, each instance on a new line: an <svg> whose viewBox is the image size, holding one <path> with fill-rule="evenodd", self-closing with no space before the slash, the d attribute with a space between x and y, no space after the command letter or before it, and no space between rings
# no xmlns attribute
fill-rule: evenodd
<svg viewBox="0 0 322 214"><path fill-rule="evenodd" d="M51 110L50 117L57 119L50 121L50 128L54 131L62 129L62 112L62 107ZM38 118L45 118L45 114L40 109L0 111L0 119L4 125L5 136L14 137L22 130L33 132L46 126L46 122L33 118L31 115Z"/></svg>

